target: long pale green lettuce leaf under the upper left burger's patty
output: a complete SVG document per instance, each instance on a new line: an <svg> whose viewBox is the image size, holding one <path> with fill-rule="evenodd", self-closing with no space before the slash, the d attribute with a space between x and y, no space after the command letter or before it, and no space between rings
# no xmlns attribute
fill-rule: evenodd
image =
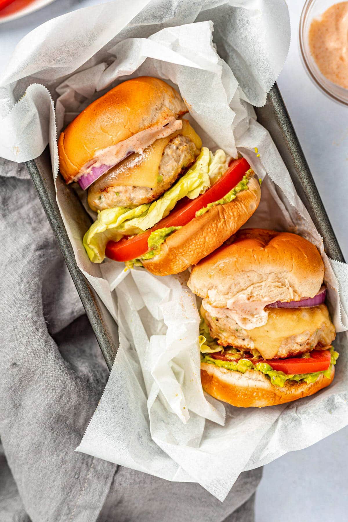
<svg viewBox="0 0 348 522"><path fill-rule="evenodd" d="M83 237L83 246L90 260L93 263L101 263L105 258L107 242L119 241L123 236L140 234L152 228L169 214L179 199L195 199L205 192L211 185L210 166L216 174L217 171L222 171L219 165L223 165L225 161L223 151L217 151L215 156L211 157L210 150L202 147L192 167L159 199L136 208L115 207L98 212L97 221Z"/></svg>

